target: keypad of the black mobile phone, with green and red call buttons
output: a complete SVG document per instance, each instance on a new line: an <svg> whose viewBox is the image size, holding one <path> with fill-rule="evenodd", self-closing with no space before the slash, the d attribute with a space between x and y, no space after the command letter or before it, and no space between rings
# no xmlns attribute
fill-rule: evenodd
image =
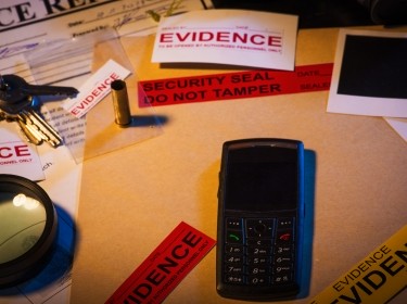
<svg viewBox="0 0 407 304"><path fill-rule="evenodd" d="M293 282L294 218L227 218L225 237L225 282Z"/></svg>

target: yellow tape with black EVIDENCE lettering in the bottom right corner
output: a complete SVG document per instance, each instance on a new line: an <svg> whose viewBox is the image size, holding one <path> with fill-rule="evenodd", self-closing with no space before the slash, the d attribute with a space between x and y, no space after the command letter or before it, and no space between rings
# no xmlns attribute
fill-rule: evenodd
<svg viewBox="0 0 407 304"><path fill-rule="evenodd" d="M407 226L354 265L310 304L387 303L406 288Z"/></svg>

